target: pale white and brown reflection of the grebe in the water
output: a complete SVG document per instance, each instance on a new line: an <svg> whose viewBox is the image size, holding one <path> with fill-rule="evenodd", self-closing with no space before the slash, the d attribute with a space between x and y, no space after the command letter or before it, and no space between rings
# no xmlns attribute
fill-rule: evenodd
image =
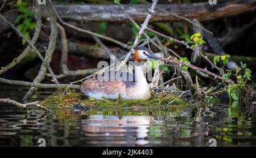
<svg viewBox="0 0 256 158"><path fill-rule="evenodd" d="M87 142L89 144L145 146L151 119L150 116L124 116L119 119L118 116L93 115L82 120L82 130L85 136L93 138Z"/></svg>

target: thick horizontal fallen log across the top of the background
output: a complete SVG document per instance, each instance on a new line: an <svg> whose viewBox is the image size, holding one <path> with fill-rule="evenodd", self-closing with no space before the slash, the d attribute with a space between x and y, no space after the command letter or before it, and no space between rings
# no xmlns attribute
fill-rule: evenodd
<svg viewBox="0 0 256 158"><path fill-rule="evenodd" d="M174 22L187 19L208 21L227 16L241 14L256 10L255 1L222 1L217 5L204 3L160 4L158 12L154 14L151 22ZM148 12L148 5L122 5L127 13L141 23ZM76 22L129 22L118 5L55 5L60 18ZM162 8L162 10L159 10ZM168 12L165 12L166 10ZM170 13L171 12L171 13ZM47 18L47 10L43 9L43 17ZM102 16L104 15L104 16ZM177 16L174 16L177 15ZM206 16L207 15L207 16ZM180 18L183 17L183 18Z"/></svg>

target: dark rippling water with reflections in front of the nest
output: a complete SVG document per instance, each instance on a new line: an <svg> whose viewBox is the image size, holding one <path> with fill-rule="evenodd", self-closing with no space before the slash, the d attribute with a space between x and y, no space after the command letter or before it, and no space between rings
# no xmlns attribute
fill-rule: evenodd
<svg viewBox="0 0 256 158"><path fill-rule="evenodd" d="M26 89L0 85L0 98L21 100ZM39 91L34 99L52 93ZM65 113L65 112L64 112ZM236 104L183 109L178 116L159 112L97 110L80 115L44 114L0 104L0 146L256 146L253 108Z"/></svg>

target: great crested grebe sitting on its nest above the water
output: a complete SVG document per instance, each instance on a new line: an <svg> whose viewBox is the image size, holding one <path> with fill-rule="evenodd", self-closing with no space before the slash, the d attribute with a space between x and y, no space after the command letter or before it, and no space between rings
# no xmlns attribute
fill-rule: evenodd
<svg viewBox="0 0 256 158"><path fill-rule="evenodd" d="M142 65L147 59L158 59L153 53L151 53L150 49L140 46L135 50L133 55L134 61L134 74L128 72L121 72L120 77L126 75L122 79L115 78L114 79L106 79L99 80L98 77L92 78L89 80L85 80L80 89L81 92L84 93L85 96L92 97L96 100L101 99L118 99L118 97L122 97L123 99L142 99L147 100L150 98L150 87L148 87L147 80L143 75ZM109 77L110 73L103 73L101 76ZM126 73L126 74L124 74ZM117 72L114 72L114 75ZM132 76L131 80L130 76Z"/></svg>

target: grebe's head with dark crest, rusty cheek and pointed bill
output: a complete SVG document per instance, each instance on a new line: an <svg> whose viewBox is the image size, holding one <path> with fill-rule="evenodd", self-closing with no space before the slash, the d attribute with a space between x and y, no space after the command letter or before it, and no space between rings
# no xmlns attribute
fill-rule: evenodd
<svg viewBox="0 0 256 158"><path fill-rule="evenodd" d="M146 62L147 59L158 59L158 58L150 51L150 49L144 46L137 47L133 55L133 61Z"/></svg>

